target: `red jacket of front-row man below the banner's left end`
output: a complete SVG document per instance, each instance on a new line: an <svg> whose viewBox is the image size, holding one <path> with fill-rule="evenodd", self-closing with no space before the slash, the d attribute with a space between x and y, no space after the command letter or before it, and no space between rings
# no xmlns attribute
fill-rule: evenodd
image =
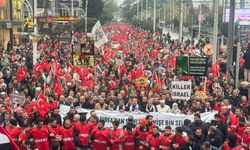
<svg viewBox="0 0 250 150"><path fill-rule="evenodd" d="M64 143L62 150L76 149L76 144L74 141L74 126L71 126L69 129L60 127L59 134L62 135L62 140Z"/></svg>

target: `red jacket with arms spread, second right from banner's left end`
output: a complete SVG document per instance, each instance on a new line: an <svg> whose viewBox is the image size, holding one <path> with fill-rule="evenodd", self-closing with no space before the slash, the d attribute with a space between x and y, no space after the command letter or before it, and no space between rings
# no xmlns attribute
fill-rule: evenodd
<svg viewBox="0 0 250 150"><path fill-rule="evenodd" d="M95 124L93 124L92 122L88 122L86 124L77 122L75 124L75 129L78 132L78 140L80 142L80 146L89 146L89 135L94 126Z"/></svg>

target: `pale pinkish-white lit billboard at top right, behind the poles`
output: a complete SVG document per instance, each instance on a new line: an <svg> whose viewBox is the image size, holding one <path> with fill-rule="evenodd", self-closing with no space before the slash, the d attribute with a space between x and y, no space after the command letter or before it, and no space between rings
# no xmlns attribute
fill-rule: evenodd
<svg viewBox="0 0 250 150"><path fill-rule="evenodd" d="M226 9L223 21L229 22L230 11ZM235 22L236 21L250 21L250 9L235 9Z"/></svg>

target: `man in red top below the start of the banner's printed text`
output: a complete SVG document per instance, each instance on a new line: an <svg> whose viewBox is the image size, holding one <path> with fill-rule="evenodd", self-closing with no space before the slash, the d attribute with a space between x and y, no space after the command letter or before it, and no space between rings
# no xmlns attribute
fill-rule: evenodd
<svg viewBox="0 0 250 150"><path fill-rule="evenodd" d="M99 120L92 131L93 150L110 150L110 129L105 128L105 121Z"/></svg>

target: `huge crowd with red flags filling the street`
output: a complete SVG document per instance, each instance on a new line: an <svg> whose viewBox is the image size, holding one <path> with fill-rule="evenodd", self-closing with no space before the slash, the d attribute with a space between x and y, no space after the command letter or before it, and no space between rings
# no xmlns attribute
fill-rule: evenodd
<svg viewBox="0 0 250 150"><path fill-rule="evenodd" d="M34 65L32 42L0 52L0 124L20 149L249 149L248 89L235 89L234 79L226 82L223 49L212 64L209 39L178 42L129 23L109 23L103 30L109 42L95 48L94 66L74 66L71 50L49 37L40 39ZM85 42L84 33L73 35L74 44ZM248 82L249 53L250 46L242 48L240 60ZM207 79L175 70L177 56L208 57ZM189 100L171 96L171 82L182 80L192 82ZM64 118L60 104L70 106ZM91 109L90 117L76 108ZM147 115L139 124L129 117L124 127L113 121L106 128L94 110L181 113L194 121L162 130ZM218 114L203 122L199 113L211 111Z"/></svg>

